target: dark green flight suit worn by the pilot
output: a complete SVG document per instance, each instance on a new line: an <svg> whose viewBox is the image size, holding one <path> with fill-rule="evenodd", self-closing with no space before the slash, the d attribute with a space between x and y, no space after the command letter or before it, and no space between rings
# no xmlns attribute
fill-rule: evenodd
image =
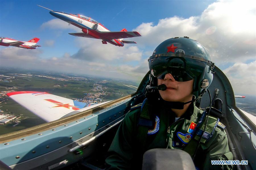
<svg viewBox="0 0 256 170"><path fill-rule="evenodd" d="M191 121L197 123L202 111L200 112L195 103L192 103L185 114L175 122L175 114L172 111L165 109L166 107L156 106L158 106L158 110L153 109L153 112L159 117L159 130L154 134L143 135L139 132L141 127L138 125L138 121L141 112L152 112L152 108L148 107L147 102L142 111L141 107L138 107L126 114L108 151L109 156L106 163L109 165L109 169L141 169L144 152L153 148L184 149L181 146L184 144L177 137L177 132L186 134ZM170 127L170 133L167 133L168 127ZM170 136L169 139L168 136ZM141 139L138 138L145 139L141 142ZM198 140L192 140L198 143ZM193 147L196 146L193 145ZM226 132L218 126L213 130L211 138L205 143L200 142L194 163L199 169L232 169L232 165L212 165L211 160L233 160L233 155L228 148Z"/></svg>

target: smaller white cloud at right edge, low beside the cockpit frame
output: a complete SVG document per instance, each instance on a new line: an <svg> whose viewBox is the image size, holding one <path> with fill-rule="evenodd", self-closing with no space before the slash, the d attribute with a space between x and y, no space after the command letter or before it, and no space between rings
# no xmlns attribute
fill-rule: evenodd
<svg viewBox="0 0 256 170"><path fill-rule="evenodd" d="M236 63L223 70L235 93L256 96L256 61Z"/></svg>

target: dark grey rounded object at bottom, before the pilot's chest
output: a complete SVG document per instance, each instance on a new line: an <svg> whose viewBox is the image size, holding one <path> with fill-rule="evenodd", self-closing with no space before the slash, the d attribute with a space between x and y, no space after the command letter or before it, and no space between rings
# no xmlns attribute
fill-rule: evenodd
<svg viewBox="0 0 256 170"><path fill-rule="evenodd" d="M143 155L142 170L196 170L190 155L179 149L150 149Z"/></svg>

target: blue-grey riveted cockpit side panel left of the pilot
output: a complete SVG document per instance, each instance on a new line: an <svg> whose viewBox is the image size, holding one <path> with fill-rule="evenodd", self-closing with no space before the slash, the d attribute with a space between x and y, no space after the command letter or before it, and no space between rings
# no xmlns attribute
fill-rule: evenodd
<svg viewBox="0 0 256 170"><path fill-rule="evenodd" d="M25 169L33 169L48 162L51 162L51 165L58 163L60 159L57 158L61 156L65 158L65 154L69 154L68 149L75 147L79 142L82 143L88 140L95 135L94 132L100 132L98 130L113 125L121 119L126 113L130 99L128 98L113 106L97 110L93 114L65 125L1 143L0 159L14 169L22 169L24 167L26 167ZM53 155L52 158L49 157L51 155ZM37 161L34 161L34 159ZM72 163L72 161L69 162Z"/></svg>

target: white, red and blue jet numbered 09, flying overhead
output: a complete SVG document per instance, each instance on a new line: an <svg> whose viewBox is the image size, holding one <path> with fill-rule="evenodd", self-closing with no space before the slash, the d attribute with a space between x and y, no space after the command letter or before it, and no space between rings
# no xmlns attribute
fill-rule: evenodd
<svg viewBox="0 0 256 170"><path fill-rule="evenodd" d="M45 9L48 9L48 8L45 8ZM95 21L94 19L87 16L82 16L80 14L68 14L65 12L53 11L51 9L48 9L48 10L50 10L51 15L82 29L81 33L69 33L70 35L74 35L78 37L102 39L102 44L107 44L108 42L110 44L123 47L125 43L136 44L136 42L134 41L126 41L126 40L123 40L123 38L141 36L138 32L127 31L125 28L118 32L112 32L107 28L105 28L99 22Z"/></svg>

